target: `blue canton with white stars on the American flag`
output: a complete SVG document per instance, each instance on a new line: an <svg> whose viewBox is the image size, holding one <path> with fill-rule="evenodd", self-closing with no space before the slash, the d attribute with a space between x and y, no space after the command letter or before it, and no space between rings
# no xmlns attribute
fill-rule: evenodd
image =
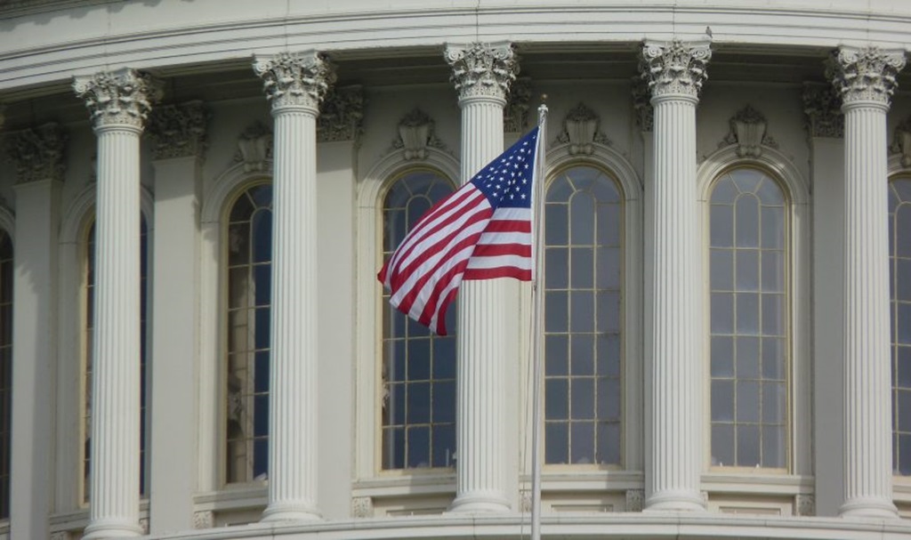
<svg viewBox="0 0 911 540"><path fill-rule="evenodd" d="M531 208L537 128L472 178L493 208Z"/></svg>

